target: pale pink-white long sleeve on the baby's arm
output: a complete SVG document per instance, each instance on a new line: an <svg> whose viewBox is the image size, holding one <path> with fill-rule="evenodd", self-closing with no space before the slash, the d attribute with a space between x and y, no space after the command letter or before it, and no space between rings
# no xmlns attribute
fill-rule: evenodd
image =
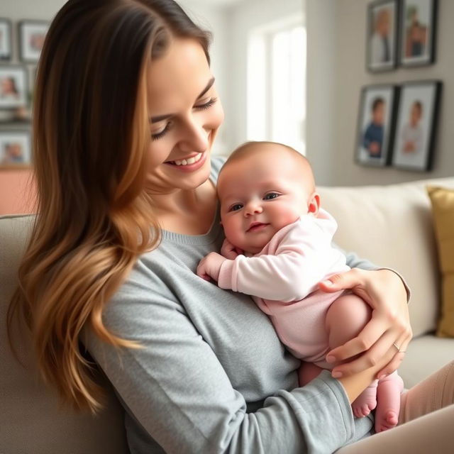
<svg viewBox="0 0 454 454"><path fill-rule="evenodd" d="M346 270L343 255L331 248L331 238L332 233L302 218L276 234L269 253L224 261L218 286L264 299L299 301L326 275Z"/></svg>

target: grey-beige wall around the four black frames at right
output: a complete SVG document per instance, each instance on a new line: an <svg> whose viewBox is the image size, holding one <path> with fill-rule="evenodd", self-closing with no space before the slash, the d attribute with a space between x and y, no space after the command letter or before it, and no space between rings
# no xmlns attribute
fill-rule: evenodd
<svg viewBox="0 0 454 454"><path fill-rule="evenodd" d="M320 170L320 175L316 177L320 177L319 182L323 184L357 185L454 175L454 128L450 124L450 119L454 118L454 59L451 45L454 41L454 1L439 1L434 65L398 68L380 74L365 70L367 4L367 0L307 0L307 154L316 164L317 170ZM327 33L328 37L323 38L323 33ZM331 76L328 72L331 72ZM325 82L318 77L325 79L327 92L323 92L321 85ZM443 81L433 171L406 172L392 167L357 165L353 162L353 154L361 87L418 79ZM326 110L326 128L320 110ZM327 135L330 137L327 138Z"/></svg>

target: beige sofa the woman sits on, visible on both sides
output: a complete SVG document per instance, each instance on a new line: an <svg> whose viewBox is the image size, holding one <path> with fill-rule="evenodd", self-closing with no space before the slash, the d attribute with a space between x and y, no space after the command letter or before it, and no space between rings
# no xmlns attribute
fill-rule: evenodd
<svg viewBox="0 0 454 454"><path fill-rule="evenodd" d="M322 205L339 223L343 248L402 272L412 290L414 340L400 374L411 387L454 359L454 339L436 338L440 277L426 184L454 187L454 177L386 187L319 188ZM123 411L111 392L109 406L92 418L59 409L55 393L37 378L26 333L16 339L25 367L13 359L6 341L6 306L16 286L30 216L0 218L0 453L127 453Z"/></svg>

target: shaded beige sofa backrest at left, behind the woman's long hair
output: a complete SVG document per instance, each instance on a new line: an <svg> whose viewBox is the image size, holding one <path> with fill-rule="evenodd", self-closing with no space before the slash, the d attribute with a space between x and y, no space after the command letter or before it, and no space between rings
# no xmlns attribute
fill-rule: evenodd
<svg viewBox="0 0 454 454"><path fill-rule="evenodd" d="M114 392L99 416L63 409L38 377L26 330L13 338L23 365L11 353L6 309L32 221L32 216L0 217L0 453L128 453L123 409Z"/></svg>

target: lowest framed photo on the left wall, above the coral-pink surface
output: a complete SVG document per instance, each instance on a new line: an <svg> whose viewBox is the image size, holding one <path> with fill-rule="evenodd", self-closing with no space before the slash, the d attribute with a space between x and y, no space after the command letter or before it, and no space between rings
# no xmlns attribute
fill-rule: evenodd
<svg viewBox="0 0 454 454"><path fill-rule="evenodd" d="M29 131L0 131L0 169L31 165Z"/></svg>

